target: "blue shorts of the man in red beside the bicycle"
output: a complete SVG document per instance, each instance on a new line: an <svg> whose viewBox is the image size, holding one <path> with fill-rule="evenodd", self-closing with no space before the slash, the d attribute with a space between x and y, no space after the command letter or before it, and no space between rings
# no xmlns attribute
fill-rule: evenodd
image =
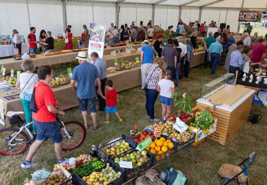
<svg viewBox="0 0 267 185"><path fill-rule="evenodd" d="M58 121L54 122L39 122L33 120L36 125L37 140L47 140L50 138L54 143L62 141L61 126Z"/></svg>

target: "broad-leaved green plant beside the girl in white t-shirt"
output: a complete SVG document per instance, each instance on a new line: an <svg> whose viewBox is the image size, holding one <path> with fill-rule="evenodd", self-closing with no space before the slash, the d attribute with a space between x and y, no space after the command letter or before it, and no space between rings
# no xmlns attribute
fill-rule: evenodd
<svg viewBox="0 0 267 185"><path fill-rule="evenodd" d="M187 95L183 97L183 95L181 95L179 92L176 92L171 97L174 99L174 102L176 102L174 104L174 107L180 109L183 114L186 114L187 112L192 113L192 107L190 105L191 102L190 96Z"/></svg>

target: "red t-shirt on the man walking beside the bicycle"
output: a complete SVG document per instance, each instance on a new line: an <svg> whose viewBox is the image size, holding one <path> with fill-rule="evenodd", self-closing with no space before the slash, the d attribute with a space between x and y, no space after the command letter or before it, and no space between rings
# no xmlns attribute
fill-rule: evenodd
<svg viewBox="0 0 267 185"><path fill-rule="evenodd" d="M35 89L35 104L38 112L33 113L32 118L39 122L54 122L56 114L50 113L47 106L54 105L56 108L55 95L49 85L39 81L33 88Z"/></svg>

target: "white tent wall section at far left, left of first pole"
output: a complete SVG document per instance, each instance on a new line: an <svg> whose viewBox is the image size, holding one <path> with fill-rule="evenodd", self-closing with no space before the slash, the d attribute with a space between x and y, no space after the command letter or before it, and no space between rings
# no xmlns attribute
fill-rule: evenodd
<svg viewBox="0 0 267 185"><path fill-rule="evenodd" d="M12 35L13 29L26 38L30 32L26 0L0 0L0 34Z"/></svg>

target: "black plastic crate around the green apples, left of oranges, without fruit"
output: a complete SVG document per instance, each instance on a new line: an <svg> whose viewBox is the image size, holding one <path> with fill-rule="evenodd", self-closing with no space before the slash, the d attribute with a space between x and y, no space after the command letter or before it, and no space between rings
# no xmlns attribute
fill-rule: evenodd
<svg viewBox="0 0 267 185"><path fill-rule="evenodd" d="M134 150L135 151L135 150ZM133 151L132 151L133 152ZM127 152L122 153L120 155L118 155L117 157L122 157L125 156L126 154L129 154ZM155 154L152 154L150 152L147 151L147 157L148 157L148 161L143 163L140 167L134 168L134 169L125 169L125 168L121 168L119 164L117 164L115 161L111 160L112 163L114 165L117 165L118 168L120 168L125 174L125 182L129 181L130 179L133 179L135 177L140 176L142 173L146 172L147 170L149 170L150 168L153 167L154 165L154 160L155 160Z"/></svg>

